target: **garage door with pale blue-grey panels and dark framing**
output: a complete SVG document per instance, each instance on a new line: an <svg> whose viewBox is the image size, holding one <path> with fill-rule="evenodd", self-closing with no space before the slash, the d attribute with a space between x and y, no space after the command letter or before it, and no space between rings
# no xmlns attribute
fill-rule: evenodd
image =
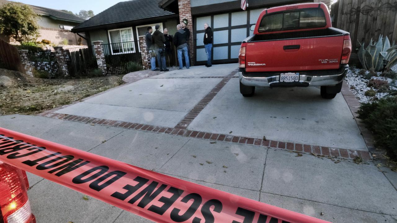
<svg viewBox="0 0 397 223"><path fill-rule="evenodd" d="M203 15L195 17L195 64L205 64L207 56L204 48L204 23L208 23L214 33L212 49L213 63L233 63L238 61L241 41L252 35L250 27L258 20L263 9Z"/></svg>

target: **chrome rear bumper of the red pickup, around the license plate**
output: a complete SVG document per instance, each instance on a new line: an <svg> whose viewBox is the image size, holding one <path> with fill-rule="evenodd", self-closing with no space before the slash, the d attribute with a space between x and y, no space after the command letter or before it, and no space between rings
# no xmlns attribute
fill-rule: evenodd
<svg viewBox="0 0 397 223"><path fill-rule="evenodd" d="M280 73L245 73L240 70L239 79L243 85L257 87L335 86L343 81L348 69L349 65L343 65L331 71L297 71L299 82L280 82Z"/></svg>

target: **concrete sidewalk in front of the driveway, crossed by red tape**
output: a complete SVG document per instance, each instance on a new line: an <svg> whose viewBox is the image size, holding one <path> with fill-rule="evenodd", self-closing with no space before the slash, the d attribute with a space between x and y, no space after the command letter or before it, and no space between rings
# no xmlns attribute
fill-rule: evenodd
<svg viewBox="0 0 397 223"><path fill-rule="evenodd" d="M370 161L334 163L254 145L38 116L1 116L0 126L334 223L397 222L397 173L384 174ZM28 178L37 222L150 222L35 175Z"/></svg>

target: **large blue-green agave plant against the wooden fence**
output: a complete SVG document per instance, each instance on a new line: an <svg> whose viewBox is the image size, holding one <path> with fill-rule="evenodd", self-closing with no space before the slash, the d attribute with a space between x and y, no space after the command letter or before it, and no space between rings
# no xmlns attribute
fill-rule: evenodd
<svg viewBox="0 0 397 223"><path fill-rule="evenodd" d="M383 38L379 35L378 42L373 44L371 39L370 44L364 48L364 43L361 44L358 50L358 58L364 69L374 68L375 71L382 71L383 60L389 60L385 69L390 70L395 64L397 64L397 45L390 45L389 38L387 36Z"/></svg>

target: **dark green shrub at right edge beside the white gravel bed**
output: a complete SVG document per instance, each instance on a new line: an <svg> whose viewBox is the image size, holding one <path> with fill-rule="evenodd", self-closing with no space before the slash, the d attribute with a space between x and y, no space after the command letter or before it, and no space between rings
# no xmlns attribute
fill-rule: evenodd
<svg viewBox="0 0 397 223"><path fill-rule="evenodd" d="M397 96L362 104L357 113L358 118L374 133L376 146L384 148L390 157L397 159Z"/></svg>

